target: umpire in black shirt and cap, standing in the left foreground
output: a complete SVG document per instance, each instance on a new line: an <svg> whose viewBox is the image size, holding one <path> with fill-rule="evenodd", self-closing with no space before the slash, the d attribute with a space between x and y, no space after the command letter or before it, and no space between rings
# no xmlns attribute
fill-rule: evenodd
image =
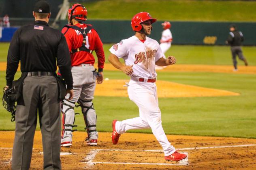
<svg viewBox="0 0 256 170"><path fill-rule="evenodd" d="M38 112L43 138L43 168L56 170L61 169L61 115L55 77L56 59L66 81L67 93L72 99L70 54L62 33L48 25L51 15L49 4L44 0L36 2L33 15L34 24L23 26L15 32L7 56L7 88L12 86L19 61L22 75L26 74L22 96L17 101L12 169L30 168Z"/></svg>

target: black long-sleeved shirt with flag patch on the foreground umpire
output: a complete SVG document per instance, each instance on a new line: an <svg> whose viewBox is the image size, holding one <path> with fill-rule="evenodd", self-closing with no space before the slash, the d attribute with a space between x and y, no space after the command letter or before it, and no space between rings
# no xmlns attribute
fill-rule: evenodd
<svg viewBox="0 0 256 170"><path fill-rule="evenodd" d="M21 72L57 70L56 58L67 88L73 89L71 59L63 34L45 21L19 28L11 40L7 56L6 85L11 86L19 60Z"/></svg>

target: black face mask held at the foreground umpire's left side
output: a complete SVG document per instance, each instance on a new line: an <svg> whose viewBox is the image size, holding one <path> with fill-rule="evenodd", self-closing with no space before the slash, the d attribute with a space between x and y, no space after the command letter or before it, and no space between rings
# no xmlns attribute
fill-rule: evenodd
<svg viewBox="0 0 256 170"><path fill-rule="evenodd" d="M11 99L11 95L16 93L15 88L6 88L4 87L4 95L2 98L3 101L3 106L4 108L11 112L12 118L11 118L11 122L15 121L15 111L16 111L16 105L15 105L15 101L13 101Z"/></svg>

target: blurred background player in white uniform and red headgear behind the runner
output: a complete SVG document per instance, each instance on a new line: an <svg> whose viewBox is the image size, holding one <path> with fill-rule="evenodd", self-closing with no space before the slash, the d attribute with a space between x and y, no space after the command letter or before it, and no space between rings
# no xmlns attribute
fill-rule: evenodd
<svg viewBox="0 0 256 170"><path fill-rule="evenodd" d="M160 48L162 53L164 54L169 48L171 48L171 42L173 41L173 35L171 33L171 23L168 21L164 21L162 23L164 31L162 32L162 38L160 40ZM164 58L166 59L165 55ZM163 69L164 67L160 67L156 65L156 69Z"/></svg>

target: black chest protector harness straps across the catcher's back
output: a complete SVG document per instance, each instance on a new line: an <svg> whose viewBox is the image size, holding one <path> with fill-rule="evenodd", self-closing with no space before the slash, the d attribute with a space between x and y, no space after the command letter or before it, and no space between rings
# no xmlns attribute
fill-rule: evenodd
<svg viewBox="0 0 256 170"><path fill-rule="evenodd" d="M72 49L71 50L72 53L79 52L79 51L86 51L86 52L90 52L90 53L93 52L93 50L90 50L86 47L86 36L87 36L88 32L92 29L91 25L87 25L86 29L81 29L81 28L77 27L76 25L65 25L64 27L68 27L68 29L69 28L76 29L76 30L80 31L83 36L82 46L77 49ZM68 29L67 29L67 31L68 31ZM64 34L66 34L66 32Z"/></svg>

